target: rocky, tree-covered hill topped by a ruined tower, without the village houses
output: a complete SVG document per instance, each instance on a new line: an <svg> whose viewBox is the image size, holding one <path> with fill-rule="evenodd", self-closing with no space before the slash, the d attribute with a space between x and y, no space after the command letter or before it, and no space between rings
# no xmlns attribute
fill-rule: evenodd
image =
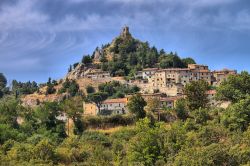
<svg viewBox="0 0 250 166"><path fill-rule="evenodd" d="M144 68L184 68L195 63L191 58L181 59L177 53L158 51L148 42L135 39L124 27L119 36L111 43L97 47L93 54L85 55L81 62L69 67L65 78L41 86L34 94L25 95L22 101L26 105L34 105L37 101L60 101L67 94L59 93L66 80L75 80L79 90L86 94L86 87L110 81L126 83L125 79L133 79L138 71ZM100 78L93 79L93 76Z"/></svg>

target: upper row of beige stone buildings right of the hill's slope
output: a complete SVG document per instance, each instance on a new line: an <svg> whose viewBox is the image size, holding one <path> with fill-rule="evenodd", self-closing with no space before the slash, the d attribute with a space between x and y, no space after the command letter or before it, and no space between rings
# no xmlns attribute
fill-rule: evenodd
<svg viewBox="0 0 250 166"><path fill-rule="evenodd" d="M131 84L135 83L143 93L161 92L167 96L179 96L183 94L184 86L191 81L205 80L209 85L218 86L234 74L237 74L236 70L210 71L208 66L189 64L187 68L144 69L136 76L142 81L131 81Z"/></svg>

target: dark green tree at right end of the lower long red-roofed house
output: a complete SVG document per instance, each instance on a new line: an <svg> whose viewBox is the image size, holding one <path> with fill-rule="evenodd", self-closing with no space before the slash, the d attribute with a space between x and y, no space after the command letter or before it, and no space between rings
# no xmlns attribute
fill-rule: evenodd
<svg viewBox="0 0 250 166"><path fill-rule="evenodd" d="M146 112L144 107L147 105L147 102L143 99L140 94L136 94L129 99L127 104L128 110L135 114L138 119L144 118L146 116Z"/></svg>

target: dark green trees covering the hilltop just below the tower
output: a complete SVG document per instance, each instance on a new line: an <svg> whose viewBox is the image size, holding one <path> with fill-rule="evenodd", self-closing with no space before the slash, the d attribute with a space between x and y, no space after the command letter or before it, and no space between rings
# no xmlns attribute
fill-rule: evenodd
<svg viewBox="0 0 250 166"><path fill-rule="evenodd" d="M109 71L112 76L133 77L136 71L143 68L185 68L188 64L195 63L192 58L181 59L177 53L158 51L154 46L151 47L148 42L141 42L131 35L119 36L111 45L104 45L95 51L99 51L101 55L101 63L97 66L104 71ZM92 63L94 54L92 57L85 55L82 63L85 65ZM108 59L107 57L110 55L112 55L111 59Z"/></svg>

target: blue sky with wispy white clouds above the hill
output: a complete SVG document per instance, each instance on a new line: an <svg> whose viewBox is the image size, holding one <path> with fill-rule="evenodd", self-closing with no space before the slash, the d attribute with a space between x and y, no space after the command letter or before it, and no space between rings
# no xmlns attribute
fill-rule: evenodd
<svg viewBox="0 0 250 166"><path fill-rule="evenodd" d="M249 0L0 0L0 73L45 82L129 26L211 70L250 71Z"/></svg>

